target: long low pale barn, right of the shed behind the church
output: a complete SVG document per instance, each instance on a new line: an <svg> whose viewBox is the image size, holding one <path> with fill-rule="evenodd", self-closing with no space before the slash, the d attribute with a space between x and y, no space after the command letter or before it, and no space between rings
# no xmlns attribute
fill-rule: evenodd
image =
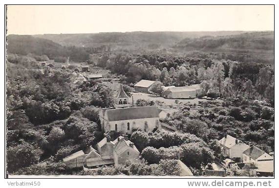
<svg viewBox="0 0 279 188"><path fill-rule="evenodd" d="M169 87L163 92L163 96L169 99L192 99L197 97L199 91L199 84L182 87Z"/></svg>

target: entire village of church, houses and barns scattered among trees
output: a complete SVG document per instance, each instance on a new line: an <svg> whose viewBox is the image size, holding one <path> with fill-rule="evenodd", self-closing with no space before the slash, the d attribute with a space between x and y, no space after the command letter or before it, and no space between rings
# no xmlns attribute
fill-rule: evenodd
<svg viewBox="0 0 279 188"><path fill-rule="evenodd" d="M47 67L49 73L59 63L40 62L40 67ZM55 65L54 65L55 64ZM61 69L67 69L70 63L62 64ZM96 171L101 167L119 167L129 160L139 160L141 153L129 140L129 136L135 130L165 132L180 132L175 127L162 121L173 112L179 110L179 104L187 103L198 108L199 101L213 100L210 97L197 98L200 91L199 84L190 86L161 86L162 95L158 96L150 92L150 88L158 81L141 80L134 84L134 92L130 97L125 93L120 79L103 76L104 70L81 65L73 69L73 84L82 84L88 81L98 81L107 84L113 83L116 90L114 106L102 108L99 119L103 132L103 139L95 146L89 146L63 158L64 164L72 169L84 171ZM105 73L109 74L109 73ZM150 106L136 106L137 100L153 100ZM218 99L217 99L218 100ZM159 103L160 102L160 103ZM156 105L156 104L160 105ZM163 105L162 105L163 104ZM175 105L176 104L176 105ZM230 135L225 135L218 140L220 158L215 157L214 162L208 164L210 169L204 171L205 176L226 176L226 170L237 168L239 171L249 167L250 176L269 176L274 171L274 153L266 153L256 146L249 146ZM187 155L187 153L186 153ZM190 168L177 158L180 167L180 176L193 176Z"/></svg>

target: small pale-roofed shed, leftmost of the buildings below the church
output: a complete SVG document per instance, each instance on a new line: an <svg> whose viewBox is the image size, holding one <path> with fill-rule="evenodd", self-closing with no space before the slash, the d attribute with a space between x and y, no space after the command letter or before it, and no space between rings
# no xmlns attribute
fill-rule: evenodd
<svg viewBox="0 0 279 188"><path fill-rule="evenodd" d="M67 167L74 168L74 167L82 167L83 161L86 155L83 150L77 151L65 158L63 158L63 162Z"/></svg>

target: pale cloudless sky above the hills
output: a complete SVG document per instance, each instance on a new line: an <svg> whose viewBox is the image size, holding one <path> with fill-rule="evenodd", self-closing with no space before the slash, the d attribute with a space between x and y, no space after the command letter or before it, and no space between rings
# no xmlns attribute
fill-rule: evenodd
<svg viewBox="0 0 279 188"><path fill-rule="evenodd" d="M7 34L274 30L273 5L8 5Z"/></svg>

